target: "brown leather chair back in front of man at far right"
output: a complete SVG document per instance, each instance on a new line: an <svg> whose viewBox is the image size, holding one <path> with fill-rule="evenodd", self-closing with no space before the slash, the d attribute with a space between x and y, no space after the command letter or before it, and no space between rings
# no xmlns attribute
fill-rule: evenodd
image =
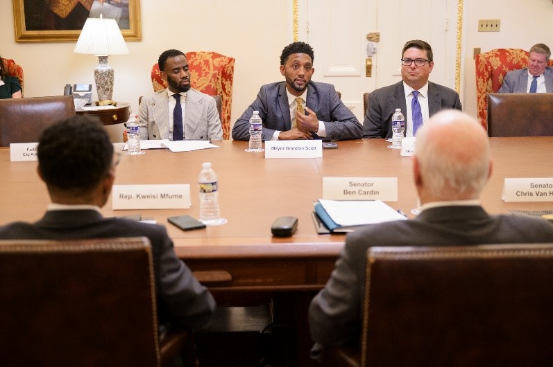
<svg viewBox="0 0 553 367"><path fill-rule="evenodd" d="M488 94L488 136L553 136L553 93Z"/></svg>

